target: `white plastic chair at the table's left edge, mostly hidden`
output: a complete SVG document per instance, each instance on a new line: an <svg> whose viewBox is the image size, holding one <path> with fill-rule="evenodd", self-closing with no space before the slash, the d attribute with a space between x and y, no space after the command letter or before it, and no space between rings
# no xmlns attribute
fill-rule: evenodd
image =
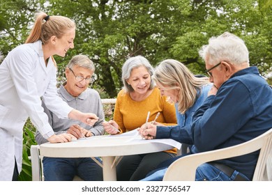
<svg viewBox="0 0 272 195"><path fill-rule="evenodd" d="M43 156L40 156L40 146L32 145L30 148L31 155L31 168L32 168L32 180L44 181L43 176ZM75 176L73 181L82 181L82 178Z"/></svg>

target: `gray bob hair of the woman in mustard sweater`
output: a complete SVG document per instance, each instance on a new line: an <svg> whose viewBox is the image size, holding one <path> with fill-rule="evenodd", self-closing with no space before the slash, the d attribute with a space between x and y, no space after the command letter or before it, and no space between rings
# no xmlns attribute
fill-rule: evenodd
<svg viewBox="0 0 272 195"><path fill-rule="evenodd" d="M154 69L149 61L143 56L134 56L126 60L122 67L122 81L123 81L123 90L126 93L133 92L134 89L128 84L126 81L130 78L131 71L134 68L139 68L140 66L144 66L146 70L149 72L150 77L153 75ZM151 79L150 89L154 88L155 82Z"/></svg>

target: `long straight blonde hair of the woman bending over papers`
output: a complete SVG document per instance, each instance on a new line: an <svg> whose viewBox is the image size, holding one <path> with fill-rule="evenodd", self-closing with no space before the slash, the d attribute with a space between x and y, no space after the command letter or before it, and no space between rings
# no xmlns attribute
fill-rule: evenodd
<svg viewBox="0 0 272 195"><path fill-rule="evenodd" d="M184 114L197 100L201 88L209 84L208 77L195 77L183 63L174 59L160 62L156 67L154 81L170 88L179 89L178 111Z"/></svg>

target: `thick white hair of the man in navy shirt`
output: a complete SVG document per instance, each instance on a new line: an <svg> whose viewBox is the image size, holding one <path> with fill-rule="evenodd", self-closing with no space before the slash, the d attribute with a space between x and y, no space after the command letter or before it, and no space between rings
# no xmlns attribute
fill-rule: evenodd
<svg viewBox="0 0 272 195"><path fill-rule="evenodd" d="M199 55L204 61L209 56L209 63L216 64L220 61L229 61L234 65L249 63L248 48L245 42L232 33L225 32L218 37L209 39L209 45L204 45L199 50Z"/></svg>

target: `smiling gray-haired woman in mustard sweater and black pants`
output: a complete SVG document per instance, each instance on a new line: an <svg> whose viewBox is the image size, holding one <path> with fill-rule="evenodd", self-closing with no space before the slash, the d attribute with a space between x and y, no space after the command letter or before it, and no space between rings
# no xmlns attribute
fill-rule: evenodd
<svg viewBox="0 0 272 195"><path fill-rule="evenodd" d="M135 130L146 122L154 120L163 125L176 125L174 104L167 102L167 97L160 95L151 76L153 67L143 56L128 59L122 68L123 89L119 92L114 109L114 120L103 123L105 131L117 134ZM110 125L109 125L110 124ZM176 148L159 153L130 155L123 157L116 167L117 180L141 180L149 171L167 159L176 156Z"/></svg>

